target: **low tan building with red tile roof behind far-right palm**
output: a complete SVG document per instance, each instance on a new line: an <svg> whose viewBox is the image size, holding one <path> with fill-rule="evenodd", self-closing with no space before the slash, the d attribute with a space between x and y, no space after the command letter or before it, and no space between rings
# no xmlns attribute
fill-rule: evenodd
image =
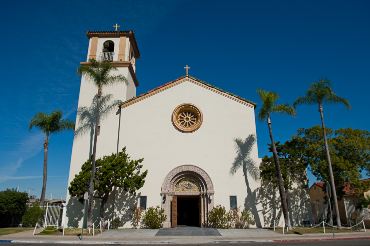
<svg viewBox="0 0 370 246"><path fill-rule="evenodd" d="M369 181L370 179L363 179L361 182ZM323 201L324 197L327 196L327 194L324 192L323 188L326 184L324 182L315 182L310 187L310 198L311 202L319 202ZM346 184L345 188L343 189L345 192L345 195L341 200L338 200L338 210L339 210L339 216L341 218L342 223L347 223L347 215L346 215L346 207L345 207L345 200L357 200L359 197L364 197L365 195L370 195L370 190L357 196L356 192L351 188L351 184ZM332 204L333 209L333 204ZM333 211L335 213L335 210ZM349 215L350 216L350 215Z"/></svg>

